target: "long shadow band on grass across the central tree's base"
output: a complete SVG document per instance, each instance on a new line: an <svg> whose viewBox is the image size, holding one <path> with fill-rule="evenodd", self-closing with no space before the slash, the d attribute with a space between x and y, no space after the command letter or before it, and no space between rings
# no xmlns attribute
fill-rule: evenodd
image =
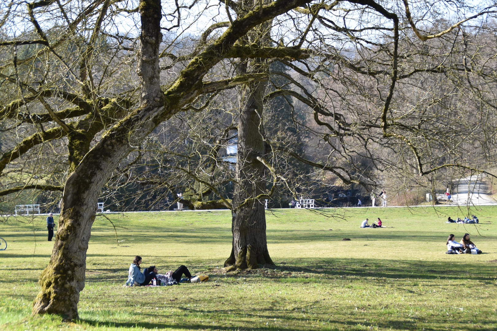
<svg viewBox="0 0 497 331"><path fill-rule="evenodd" d="M455 256L457 258L457 256ZM178 264L179 266L179 264ZM240 277L249 277L256 280L258 277L269 278L275 281L306 282L307 278L329 281L336 276L351 279L364 277L433 280L437 278L467 281L478 280L496 286L491 277L495 277L496 263L472 264L451 260L447 262L432 262L418 260L379 260L379 259L292 259L285 265L263 265L259 269L246 269L225 273L220 268L206 269L205 265L188 264L192 274L207 273L212 280L228 280L236 282ZM159 267L159 266L158 266ZM161 268L165 273L168 269ZM115 281L125 282L128 268L102 268L98 265L88 267L86 282ZM195 272L197 271L197 272ZM493 278L492 278L493 279ZM313 281L313 280L311 280Z"/></svg>

